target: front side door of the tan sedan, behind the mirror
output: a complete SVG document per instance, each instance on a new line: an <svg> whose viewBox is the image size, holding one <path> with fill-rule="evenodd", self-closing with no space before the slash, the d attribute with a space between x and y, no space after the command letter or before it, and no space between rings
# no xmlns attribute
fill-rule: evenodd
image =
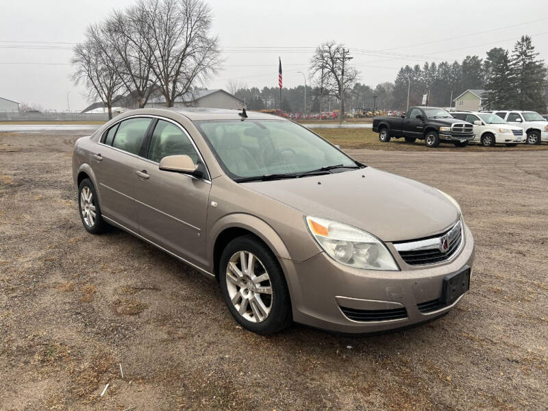
<svg viewBox="0 0 548 411"><path fill-rule="evenodd" d="M180 125L158 120L146 159L138 160L134 169L140 235L192 264L208 265L205 229L211 182L209 177L158 169L162 158L177 154L200 160Z"/></svg>

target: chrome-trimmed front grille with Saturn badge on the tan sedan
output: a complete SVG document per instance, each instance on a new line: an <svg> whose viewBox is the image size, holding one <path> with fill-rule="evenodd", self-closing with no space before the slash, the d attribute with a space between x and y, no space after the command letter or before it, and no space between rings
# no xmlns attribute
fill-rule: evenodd
<svg viewBox="0 0 548 411"><path fill-rule="evenodd" d="M447 244L444 241L447 240ZM409 265L437 264L449 260L460 249L462 244L462 223L459 221L439 236L422 240L395 242L402 260Z"/></svg>

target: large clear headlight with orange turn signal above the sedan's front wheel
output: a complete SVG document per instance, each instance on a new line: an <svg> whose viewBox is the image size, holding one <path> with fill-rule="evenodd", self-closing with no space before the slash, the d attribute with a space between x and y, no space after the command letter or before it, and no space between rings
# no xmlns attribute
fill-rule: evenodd
<svg viewBox="0 0 548 411"><path fill-rule="evenodd" d="M399 271L392 254L368 232L328 219L306 217L310 233L336 262L367 270Z"/></svg>

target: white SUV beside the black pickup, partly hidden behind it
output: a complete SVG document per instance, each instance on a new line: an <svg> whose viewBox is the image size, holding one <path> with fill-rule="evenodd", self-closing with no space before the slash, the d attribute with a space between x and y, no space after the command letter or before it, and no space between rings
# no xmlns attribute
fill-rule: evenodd
<svg viewBox="0 0 548 411"><path fill-rule="evenodd" d="M451 112L455 119L468 121L474 125L474 138L470 142L478 142L485 147L493 147L496 142L515 146L525 142L523 129L506 123L495 114L487 112Z"/></svg>

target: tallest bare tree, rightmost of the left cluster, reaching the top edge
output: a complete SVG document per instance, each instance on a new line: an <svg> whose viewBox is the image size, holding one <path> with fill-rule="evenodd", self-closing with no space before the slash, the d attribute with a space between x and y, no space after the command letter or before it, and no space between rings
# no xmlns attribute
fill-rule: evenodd
<svg viewBox="0 0 548 411"><path fill-rule="evenodd" d="M136 9L155 83L173 107L220 67L219 39L209 34L211 10L203 0L140 0Z"/></svg>

